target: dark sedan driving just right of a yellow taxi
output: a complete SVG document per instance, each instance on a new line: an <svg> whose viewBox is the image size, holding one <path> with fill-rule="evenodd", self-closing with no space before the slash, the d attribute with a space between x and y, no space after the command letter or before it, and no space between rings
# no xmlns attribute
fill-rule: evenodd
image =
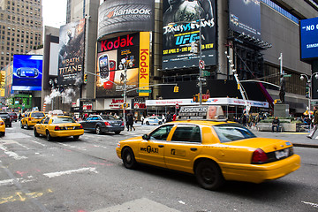
<svg viewBox="0 0 318 212"><path fill-rule="evenodd" d="M93 115L87 117L85 121L79 122L84 130L102 134L107 132L114 132L119 134L125 129L124 122L113 116Z"/></svg>

